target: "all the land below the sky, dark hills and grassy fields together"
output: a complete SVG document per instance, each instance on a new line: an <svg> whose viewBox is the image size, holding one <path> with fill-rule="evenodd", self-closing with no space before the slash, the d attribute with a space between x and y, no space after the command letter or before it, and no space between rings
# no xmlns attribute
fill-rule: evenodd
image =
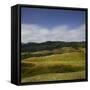
<svg viewBox="0 0 90 90"><path fill-rule="evenodd" d="M85 42L22 43L21 82L85 79Z"/></svg>

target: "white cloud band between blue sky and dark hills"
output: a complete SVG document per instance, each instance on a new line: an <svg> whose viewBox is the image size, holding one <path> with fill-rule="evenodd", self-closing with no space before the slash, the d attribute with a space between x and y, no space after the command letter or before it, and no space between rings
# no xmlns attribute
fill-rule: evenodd
<svg viewBox="0 0 90 90"><path fill-rule="evenodd" d="M53 27L51 30L34 24L21 25L21 40L27 42L45 41L85 41L85 25L70 29L67 25Z"/></svg>

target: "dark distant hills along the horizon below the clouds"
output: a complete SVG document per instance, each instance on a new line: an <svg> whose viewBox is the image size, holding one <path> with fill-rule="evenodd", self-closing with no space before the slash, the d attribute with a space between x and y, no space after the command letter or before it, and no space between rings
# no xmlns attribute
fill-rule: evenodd
<svg viewBox="0 0 90 90"><path fill-rule="evenodd" d="M85 47L85 42L64 42L64 41L47 41L43 43L34 43L29 42L27 44L21 44L21 51L22 52L35 52L35 51L42 51L42 50L53 50L62 47L72 47L72 48L79 48Z"/></svg>

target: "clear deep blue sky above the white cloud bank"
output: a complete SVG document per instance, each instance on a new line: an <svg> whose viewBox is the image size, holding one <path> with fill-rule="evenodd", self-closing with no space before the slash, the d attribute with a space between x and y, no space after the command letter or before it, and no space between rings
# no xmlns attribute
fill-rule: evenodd
<svg viewBox="0 0 90 90"><path fill-rule="evenodd" d="M47 28L63 24L77 27L85 23L83 11L22 8L21 17L22 23L38 24Z"/></svg>

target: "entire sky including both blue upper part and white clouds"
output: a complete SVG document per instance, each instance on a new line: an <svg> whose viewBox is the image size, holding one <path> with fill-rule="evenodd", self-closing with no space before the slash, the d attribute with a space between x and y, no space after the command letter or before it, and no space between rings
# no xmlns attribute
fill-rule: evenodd
<svg viewBox="0 0 90 90"><path fill-rule="evenodd" d="M85 41L85 12L21 8L21 42Z"/></svg>

